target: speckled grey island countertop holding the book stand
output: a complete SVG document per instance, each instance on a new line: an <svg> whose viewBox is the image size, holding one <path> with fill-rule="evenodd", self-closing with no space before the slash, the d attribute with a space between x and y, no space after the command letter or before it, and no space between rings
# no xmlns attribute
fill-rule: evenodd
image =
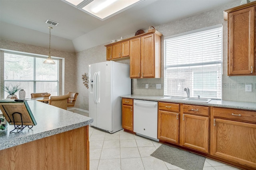
<svg viewBox="0 0 256 170"><path fill-rule="evenodd" d="M0 131L0 150L14 147L23 143L84 127L93 122L93 119L58 107L44 104L38 101L28 101L28 105L34 115L37 125L32 129L25 127L20 133L10 133L14 125L8 125L4 131Z"/></svg>

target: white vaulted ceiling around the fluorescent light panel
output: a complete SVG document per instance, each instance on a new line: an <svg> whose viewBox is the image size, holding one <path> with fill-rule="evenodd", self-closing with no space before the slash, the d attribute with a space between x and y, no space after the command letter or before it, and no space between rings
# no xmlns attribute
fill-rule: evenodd
<svg viewBox="0 0 256 170"><path fill-rule="evenodd" d="M69 52L79 52L112 39L199 14L238 0L145 0L101 21L61 0L0 0L0 38ZM210 18L209 18L210 20Z"/></svg>

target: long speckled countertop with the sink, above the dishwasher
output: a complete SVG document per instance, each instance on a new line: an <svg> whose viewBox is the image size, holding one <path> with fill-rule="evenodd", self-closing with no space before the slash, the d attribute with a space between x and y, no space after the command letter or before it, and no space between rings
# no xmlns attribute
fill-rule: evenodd
<svg viewBox="0 0 256 170"><path fill-rule="evenodd" d="M215 106L215 107L225 107L225 108L245 109L245 110L256 111L256 103L255 102L236 102L236 101L212 99L209 103L202 103L202 102L189 102L189 101L184 101L184 100L162 99L162 98L164 98L164 96L146 96L146 95L136 95L136 94L120 96L120 97L121 98L138 99L138 100L182 103L182 104L192 104L192 105L199 105L199 106Z"/></svg>

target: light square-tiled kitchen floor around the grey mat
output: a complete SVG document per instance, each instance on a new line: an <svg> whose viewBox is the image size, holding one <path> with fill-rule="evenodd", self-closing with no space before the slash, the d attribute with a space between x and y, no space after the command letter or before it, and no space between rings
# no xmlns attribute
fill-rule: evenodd
<svg viewBox="0 0 256 170"><path fill-rule="evenodd" d="M156 141L123 130L110 134L89 126L90 170L182 170L150 156ZM203 170L239 170L206 158Z"/></svg>

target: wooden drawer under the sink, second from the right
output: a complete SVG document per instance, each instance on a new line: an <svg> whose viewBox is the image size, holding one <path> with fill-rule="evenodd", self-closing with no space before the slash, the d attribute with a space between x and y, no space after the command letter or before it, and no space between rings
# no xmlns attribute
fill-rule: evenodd
<svg viewBox="0 0 256 170"><path fill-rule="evenodd" d="M183 113L191 113L193 115L209 115L208 106L183 105Z"/></svg>

